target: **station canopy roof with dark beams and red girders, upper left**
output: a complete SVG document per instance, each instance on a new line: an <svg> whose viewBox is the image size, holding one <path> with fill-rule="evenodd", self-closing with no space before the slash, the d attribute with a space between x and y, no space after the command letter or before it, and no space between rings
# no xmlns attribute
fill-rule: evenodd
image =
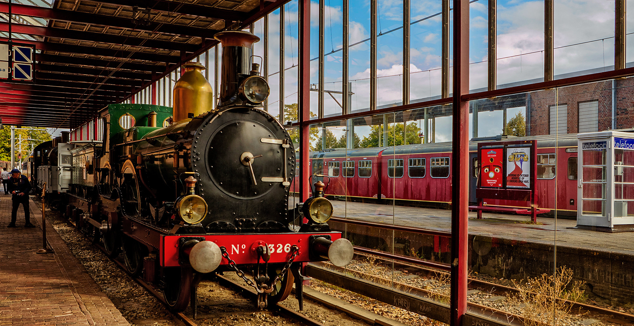
<svg viewBox="0 0 634 326"><path fill-rule="evenodd" d="M33 81L0 79L3 124L73 128L288 0L0 2L0 44L35 46ZM50 2L50 1L49 1Z"/></svg>

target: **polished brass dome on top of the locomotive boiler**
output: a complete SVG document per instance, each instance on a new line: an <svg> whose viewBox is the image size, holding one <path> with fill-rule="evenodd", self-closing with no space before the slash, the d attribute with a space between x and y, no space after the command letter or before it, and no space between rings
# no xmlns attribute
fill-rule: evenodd
<svg viewBox="0 0 634 326"><path fill-rule="evenodd" d="M205 66L188 62L182 68L185 72L174 86L174 122L183 121L190 114L196 117L214 108L214 92L202 74Z"/></svg>

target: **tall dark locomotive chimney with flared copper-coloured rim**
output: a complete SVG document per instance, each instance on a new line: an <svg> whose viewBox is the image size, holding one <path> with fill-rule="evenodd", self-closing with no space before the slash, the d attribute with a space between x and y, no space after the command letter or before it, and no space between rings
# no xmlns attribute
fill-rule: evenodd
<svg viewBox="0 0 634 326"><path fill-rule="evenodd" d="M218 105L226 105L238 95L240 75L249 75L252 46L260 38L244 30L226 30L214 36L223 44L223 70Z"/></svg>

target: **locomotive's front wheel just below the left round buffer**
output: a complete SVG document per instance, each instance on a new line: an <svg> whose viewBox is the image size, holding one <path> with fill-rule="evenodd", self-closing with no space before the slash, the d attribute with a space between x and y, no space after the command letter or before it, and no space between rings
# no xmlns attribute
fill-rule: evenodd
<svg viewBox="0 0 634 326"><path fill-rule="evenodd" d="M183 311L190 303L191 267L167 267L163 269L163 296L170 310Z"/></svg>

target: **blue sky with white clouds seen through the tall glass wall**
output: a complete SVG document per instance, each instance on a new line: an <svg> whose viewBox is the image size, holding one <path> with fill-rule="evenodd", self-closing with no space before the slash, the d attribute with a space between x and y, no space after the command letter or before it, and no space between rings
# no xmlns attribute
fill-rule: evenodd
<svg viewBox="0 0 634 326"><path fill-rule="evenodd" d="M341 0L325 1L325 90L342 90L342 22ZM631 0L628 0L631 2ZM453 4L452 4L453 5ZM349 44L370 37L370 1L350 0ZM486 87L488 1L470 4L470 89ZM298 3L285 6L285 104L297 103ZM410 22L410 100L439 96L441 92L441 1L411 1ZM279 70L280 11L269 15L269 74ZM311 3L311 58L317 58L318 2ZM634 14L631 14L634 15ZM628 15L628 19L631 15ZM417 22L420 20L420 22ZM543 1L498 1L498 85L537 79L543 76ZM632 25L632 24L630 24ZM256 22L256 34L262 34L263 22ZM398 105L402 98L403 71L403 1L378 0L377 37L377 105ZM394 30L396 29L396 30ZM389 32L390 30L394 30ZM634 26L628 27L634 32ZM614 64L614 1L555 1L555 75L580 70L609 67ZM631 35L628 35L628 41ZM583 44L579 44L583 43ZM632 42L627 42L633 44ZM573 45L576 44L576 45ZM261 53L256 44L254 53ZM628 46L628 50L634 50ZM630 54L631 53L631 54ZM628 51L627 61L634 60ZM370 105L370 41L361 42L349 51L349 80L352 83L353 110ZM311 61L311 84L318 84L318 61ZM271 96L269 111L279 110L279 75L269 76ZM314 86L316 88L316 85ZM325 115L340 114L342 95L324 95ZM311 92L311 111L318 110L318 92ZM524 108L508 111L508 119ZM479 136L499 134L501 112L481 112ZM483 123L483 122L487 123ZM339 128L342 129L342 128ZM335 134L342 131L337 129ZM436 121L436 141L451 140L451 118ZM357 128L363 133L368 128ZM363 134L359 134L363 137Z"/></svg>

